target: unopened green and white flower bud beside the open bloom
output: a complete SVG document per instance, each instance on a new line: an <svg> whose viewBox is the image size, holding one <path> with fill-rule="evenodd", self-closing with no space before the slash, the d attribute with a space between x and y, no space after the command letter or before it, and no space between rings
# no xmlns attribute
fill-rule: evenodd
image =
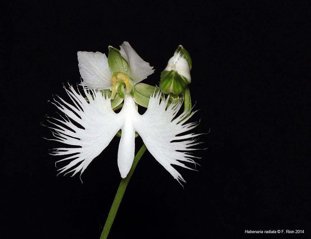
<svg viewBox="0 0 311 239"><path fill-rule="evenodd" d="M191 68L192 62L188 51L179 45L161 73L161 91L175 95L183 93L185 87L191 82Z"/></svg>

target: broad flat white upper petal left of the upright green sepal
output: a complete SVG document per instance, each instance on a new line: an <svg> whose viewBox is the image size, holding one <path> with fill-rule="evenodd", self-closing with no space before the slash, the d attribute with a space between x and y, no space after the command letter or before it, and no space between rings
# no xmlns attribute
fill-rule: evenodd
<svg viewBox="0 0 311 239"><path fill-rule="evenodd" d="M78 51L77 56L82 85L91 90L109 89L112 73L106 55L98 51Z"/></svg>

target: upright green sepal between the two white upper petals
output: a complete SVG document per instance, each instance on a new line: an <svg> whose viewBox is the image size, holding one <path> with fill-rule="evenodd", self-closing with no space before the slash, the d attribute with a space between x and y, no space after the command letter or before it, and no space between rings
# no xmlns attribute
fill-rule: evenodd
<svg viewBox="0 0 311 239"><path fill-rule="evenodd" d="M123 72L127 73L129 69L128 62L121 56L120 50L109 46L108 64L112 73Z"/></svg>

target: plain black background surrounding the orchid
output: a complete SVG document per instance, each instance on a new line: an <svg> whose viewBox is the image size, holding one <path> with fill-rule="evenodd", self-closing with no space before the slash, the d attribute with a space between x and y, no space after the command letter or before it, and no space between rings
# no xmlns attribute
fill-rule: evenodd
<svg viewBox="0 0 311 239"><path fill-rule="evenodd" d="M193 60L190 85L198 172L184 189L146 152L109 238L243 236L309 232L308 1L12 2L4 8L2 192L12 238L99 238L120 181L119 138L82 175L56 177L60 146L39 126L47 103L80 81L77 51L108 53L129 41L160 73L179 44ZM142 141L136 140L139 149ZM252 235L246 235L251 237Z"/></svg>

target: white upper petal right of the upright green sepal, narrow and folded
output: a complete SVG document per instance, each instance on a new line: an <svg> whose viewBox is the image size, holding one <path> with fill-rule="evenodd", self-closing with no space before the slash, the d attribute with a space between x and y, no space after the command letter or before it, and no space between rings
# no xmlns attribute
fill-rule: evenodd
<svg viewBox="0 0 311 239"><path fill-rule="evenodd" d="M127 74L134 84L141 82L154 72L153 67L145 62L127 41L120 46L120 54L128 62L130 69Z"/></svg>

